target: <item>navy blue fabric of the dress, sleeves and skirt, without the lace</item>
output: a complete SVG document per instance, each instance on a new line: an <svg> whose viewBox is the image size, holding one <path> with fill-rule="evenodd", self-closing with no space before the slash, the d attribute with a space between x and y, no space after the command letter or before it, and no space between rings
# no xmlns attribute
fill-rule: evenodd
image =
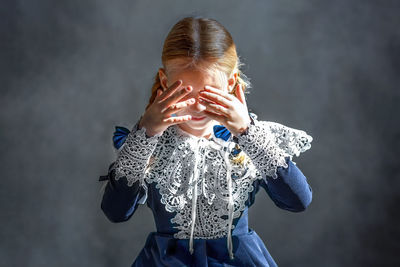
<svg viewBox="0 0 400 267"><path fill-rule="evenodd" d="M132 266L277 266L263 241L249 228L248 208L254 203L260 188L265 189L279 208L292 212L307 208L312 200L312 189L306 177L288 157L286 162L288 168L279 167L277 179L267 177L254 181L254 190L249 193L246 209L233 221L233 260L229 259L226 237L194 239L194 253L191 255L189 240L173 237L178 232L170 222L175 214L165 210L155 184L149 184L146 203L153 212L156 231L148 235L146 244ZM114 180L114 171L110 171L112 164L101 209L110 221L118 223L128 220L135 213L145 191L139 181L129 187L124 178Z"/></svg>

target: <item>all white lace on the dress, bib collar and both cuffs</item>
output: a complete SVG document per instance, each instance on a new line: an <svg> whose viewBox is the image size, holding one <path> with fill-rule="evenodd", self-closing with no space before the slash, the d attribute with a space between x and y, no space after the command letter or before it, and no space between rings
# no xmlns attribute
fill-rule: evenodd
<svg viewBox="0 0 400 267"><path fill-rule="evenodd" d="M249 193L254 190L253 182L263 175L276 175L276 168L286 165L285 156L304 152L312 140L300 130L254 118L253 121L247 134L238 137L240 147L251 160L243 166L234 163L229 155L233 219L245 209ZM214 135L210 139L194 138L177 127L168 127L159 137L147 137L144 128L132 131L114 166L116 179L126 177L130 186L138 180L144 187L146 183L156 183L166 211L176 213L171 223L179 230L174 234L178 239L190 237L196 189L194 238L227 236L235 226L228 229L229 184L224 154L235 143Z"/></svg>

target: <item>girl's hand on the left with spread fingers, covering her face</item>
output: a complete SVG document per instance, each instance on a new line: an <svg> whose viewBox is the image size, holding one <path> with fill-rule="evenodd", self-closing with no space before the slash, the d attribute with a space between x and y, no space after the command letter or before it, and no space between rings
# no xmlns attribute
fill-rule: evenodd
<svg viewBox="0 0 400 267"><path fill-rule="evenodd" d="M170 125L192 119L191 115L171 117L178 110L196 102L194 98L178 102L193 90L191 86L181 87L182 83L182 80L178 80L165 91L157 89L154 102L147 108L139 122L139 128L145 127L148 136L162 134Z"/></svg>

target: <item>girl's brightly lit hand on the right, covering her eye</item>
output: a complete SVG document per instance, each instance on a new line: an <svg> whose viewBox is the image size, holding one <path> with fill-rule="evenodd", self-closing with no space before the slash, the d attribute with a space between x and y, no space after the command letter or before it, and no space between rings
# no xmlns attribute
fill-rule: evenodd
<svg viewBox="0 0 400 267"><path fill-rule="evenodd" d="M206 107L207 116L224 125L233 135L243 133L250 123L249 112L241 85L237 85L236 95L221 89L205 86L199 93L199 101Z"/></svg>

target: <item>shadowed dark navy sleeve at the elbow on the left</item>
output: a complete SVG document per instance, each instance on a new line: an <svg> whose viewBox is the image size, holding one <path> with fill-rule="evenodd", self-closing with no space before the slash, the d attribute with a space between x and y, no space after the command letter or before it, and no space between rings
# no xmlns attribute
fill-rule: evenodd
<svg viewBox="0 0 400 267"><path fill-rule="evenodd" d="M140 181L136 181L132 186L128 186L126 179L121 177L115 180L115 169L112 170L114 162L110 165L106 178L107 184L101 201L101 209L107 218L114 223L124 222L136 211L138 204L145 197L145 190L140 186Z"/></svg>

